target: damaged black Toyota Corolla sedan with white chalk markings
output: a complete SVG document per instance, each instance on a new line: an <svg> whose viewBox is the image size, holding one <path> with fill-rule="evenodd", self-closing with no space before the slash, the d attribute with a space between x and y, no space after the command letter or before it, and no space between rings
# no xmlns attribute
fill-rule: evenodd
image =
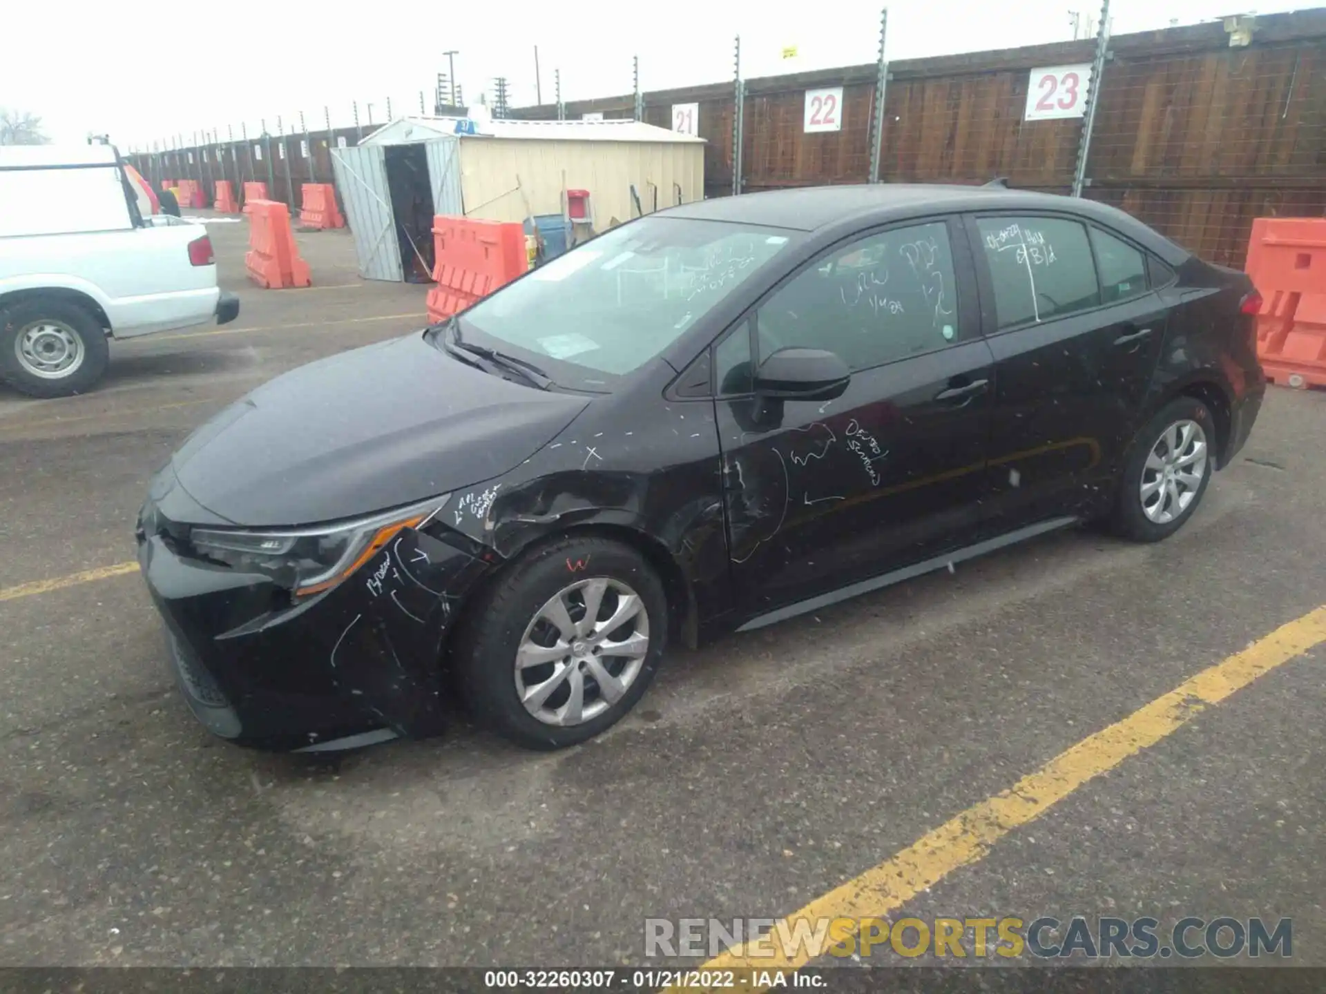
<svg viewBox="0 0 1326 994"><path fill-rule="evenodd" d="M430 734L456 687L565 746L631 709L668 639L1079 521L1171 534L1257 415L1257 305L1085 200L679 207L253 391L156 476L139 561L220 736Z"/></svg>

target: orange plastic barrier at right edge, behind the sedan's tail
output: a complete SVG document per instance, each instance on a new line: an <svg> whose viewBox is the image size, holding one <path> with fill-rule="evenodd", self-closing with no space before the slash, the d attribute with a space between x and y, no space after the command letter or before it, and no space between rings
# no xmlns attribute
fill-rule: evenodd
<svg viewBox="0 0 1326 994"><path fill-rule="evenodd" d="M1273 383L1326 387L1326 217L1258 217L1248 276L1261 294L1257 358Z"/></svg>

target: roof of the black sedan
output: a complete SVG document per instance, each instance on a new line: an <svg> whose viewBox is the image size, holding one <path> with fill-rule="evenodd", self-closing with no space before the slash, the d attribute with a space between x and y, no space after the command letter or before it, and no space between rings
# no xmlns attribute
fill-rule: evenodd
<svg viewBox="0 0 1326 994"><path fill-rule="evenodd" d="M1004 187L870 183L773 190L741 196L696 200L666 211L671 217L761 224L814 232L854 221L861 227L931 212L1059 211L1118 229L1166 262L1180 265L1191 253L1131 215L1095 200Z"/></svg>

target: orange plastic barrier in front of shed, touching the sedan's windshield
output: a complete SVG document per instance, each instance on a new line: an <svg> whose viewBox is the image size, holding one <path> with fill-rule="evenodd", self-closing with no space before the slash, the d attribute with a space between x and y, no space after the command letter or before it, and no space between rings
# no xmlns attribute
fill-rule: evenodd
<svg viewBox="0 0 1326 994"><path fill-rule="evenodd" d="M428 292L428 321L448 318L529 269L520 224L438 215L432 219L436 281Z"/></svg>

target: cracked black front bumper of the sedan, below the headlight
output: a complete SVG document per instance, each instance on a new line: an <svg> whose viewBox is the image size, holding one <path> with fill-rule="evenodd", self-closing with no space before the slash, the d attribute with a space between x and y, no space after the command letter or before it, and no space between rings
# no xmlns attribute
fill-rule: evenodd
<svg viewBox="0 0 1326 994"><path fill-rule="evenodd" d="M172 489L174 500L143 508L138 562L176 684L206 728L269 749L442 730L453 604L489 569L468 538L440 524L402 531L337 587L292 603L269 578L194 554L187 527L162 512L179 510Z"/></svg>

